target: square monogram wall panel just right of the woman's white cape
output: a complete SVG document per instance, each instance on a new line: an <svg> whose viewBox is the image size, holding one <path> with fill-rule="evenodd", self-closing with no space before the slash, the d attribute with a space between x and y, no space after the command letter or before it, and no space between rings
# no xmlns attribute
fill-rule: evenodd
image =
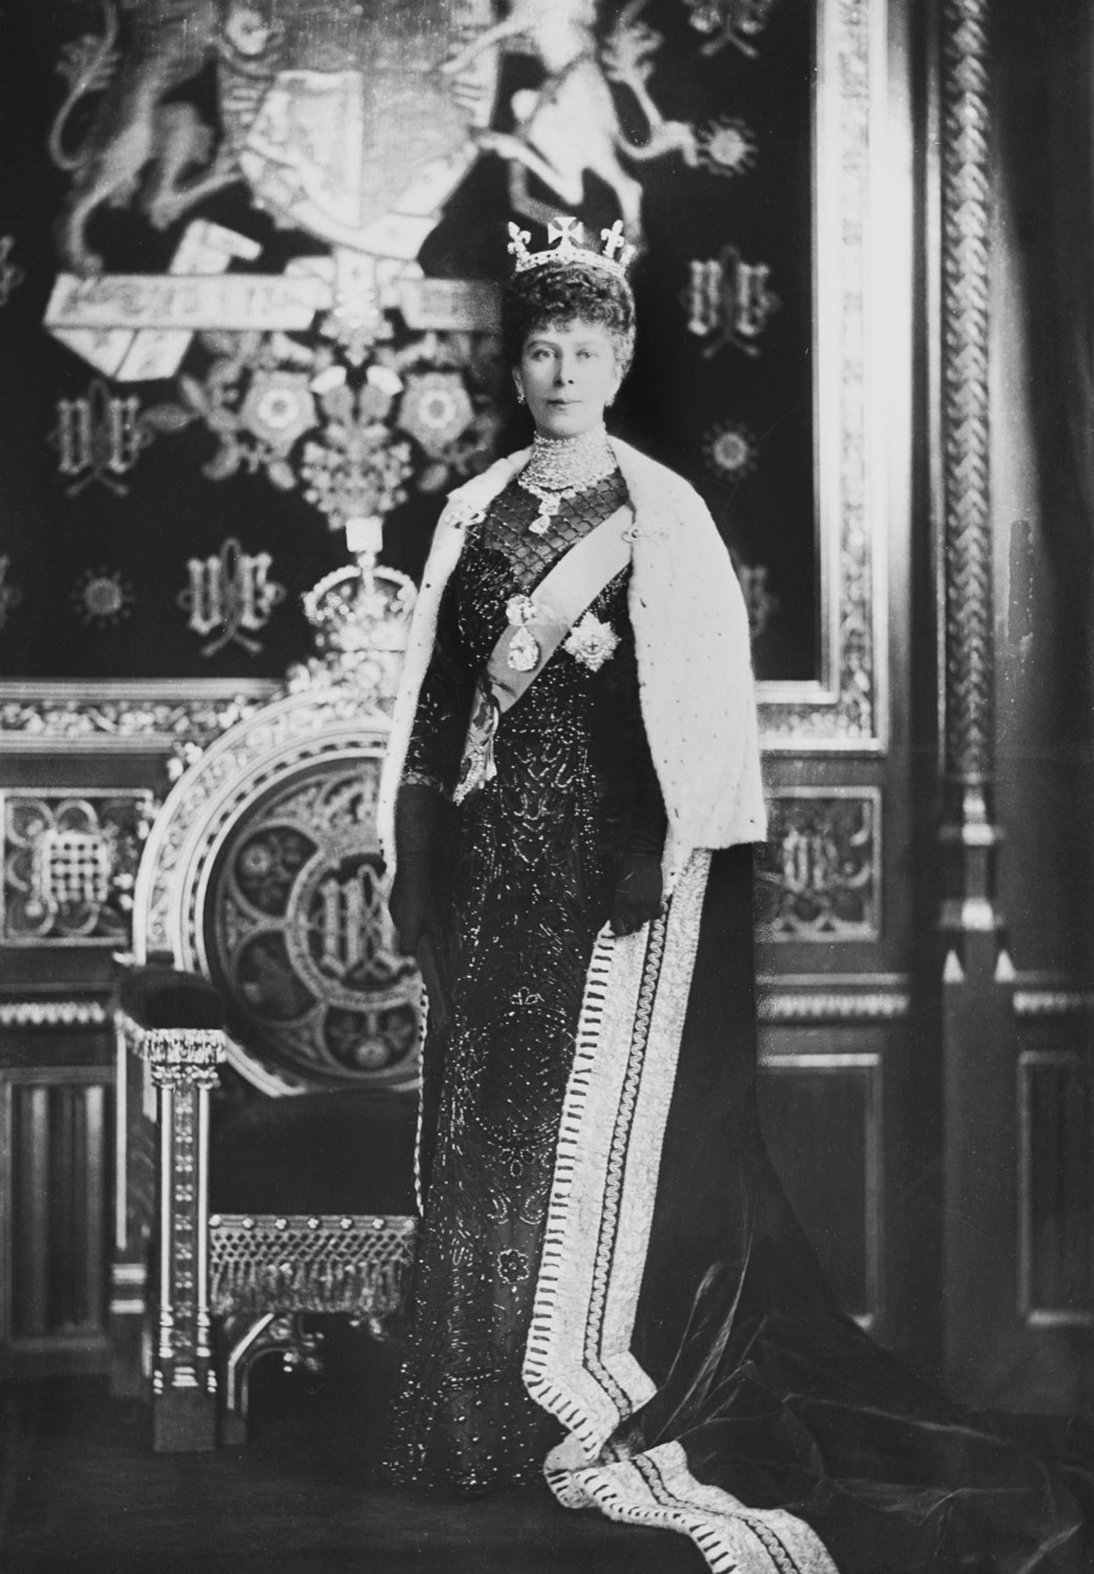
<svg viewBox="0 0 1094 1574"><path fill-rule="evenodd" d="M881 790L798 787L770 804L759 864L765 940L880 940Z"/></svg>

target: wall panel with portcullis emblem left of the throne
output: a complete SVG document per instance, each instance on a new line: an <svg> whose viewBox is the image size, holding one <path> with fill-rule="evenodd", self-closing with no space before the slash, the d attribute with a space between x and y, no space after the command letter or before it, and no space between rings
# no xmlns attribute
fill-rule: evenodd
<svg viewBox="0 0 1094 1574"><path fill-rule="evenodd" d="M0 792L0 944L126 941L153 814L150 792Z"/></svg>

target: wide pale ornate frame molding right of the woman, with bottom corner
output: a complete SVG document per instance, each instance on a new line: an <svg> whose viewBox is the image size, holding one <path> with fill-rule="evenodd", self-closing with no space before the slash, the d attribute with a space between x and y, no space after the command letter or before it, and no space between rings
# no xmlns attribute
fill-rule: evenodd
<svg viewBox="0 0 1094 1574"><path fill-rule="evenodd" d="M820 559L820 678L760 683L767 749L880 754L888 735L883 401L893 301L910 258L877 198L907 187L886 157L888 0L819 0L814 120L814 433ZM883 250L883 247L888 247ZM893 288L893 274L908 288ZM883 288L883 286L888 286ZM888 296L888 299L886 299ZM910 309L908 309L910 310ZM907 354L902 349L902 354Z"/></svg>

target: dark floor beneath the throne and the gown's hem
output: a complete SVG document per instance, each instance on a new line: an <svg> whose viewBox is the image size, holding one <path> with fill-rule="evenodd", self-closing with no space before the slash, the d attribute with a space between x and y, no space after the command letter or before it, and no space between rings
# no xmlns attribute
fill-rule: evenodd
<svg viewBox="0 0 1094 1574"><path fill-rule="evenodd" d="M247 1448L153 1454L104 1379L0 1388L5 1574L702 1574L682 1536L568 1513L545 1491L422 1500L370 1484L394 1373L255 1373Z"/></svg>

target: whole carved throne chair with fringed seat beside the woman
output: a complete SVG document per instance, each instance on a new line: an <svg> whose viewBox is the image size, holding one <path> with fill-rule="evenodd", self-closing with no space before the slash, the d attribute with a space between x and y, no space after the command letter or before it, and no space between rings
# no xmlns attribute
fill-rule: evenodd
<svg viewBox="0 0 1094 1574"><path fill-rule="evenodd" d="M187 746L134 888L118 990L118 1393L153 1447L246 1437L249 1374L378 1336L414 1231L420 979L384 903L376 790L414 587L348 567L318 655Z"/></svg>

